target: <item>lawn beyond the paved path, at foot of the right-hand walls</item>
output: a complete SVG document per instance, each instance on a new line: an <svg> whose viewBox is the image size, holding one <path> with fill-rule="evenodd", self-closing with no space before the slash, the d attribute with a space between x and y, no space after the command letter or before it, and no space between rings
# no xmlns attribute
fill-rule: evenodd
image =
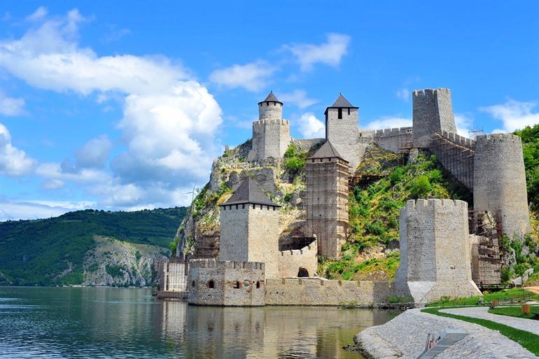
<svg viewBox="0 0 539 359"><path fill-rule="evenodd" d="M525 297L524 297L525 295ZM441 300L434 303L427 304L427 307L455 307L462 305L477 305L479 303L479 298L481 296L477 295L475 297L464 297L464 298L448 298L442 297ZM489 303L492 300L497 300L498 302L526 302L528 300L539 301L539 295L526 290L523 292L521 288L510 288L505 290L500 290L498 292L487 293L484 292L482 296L485 303Z"/></svg>

